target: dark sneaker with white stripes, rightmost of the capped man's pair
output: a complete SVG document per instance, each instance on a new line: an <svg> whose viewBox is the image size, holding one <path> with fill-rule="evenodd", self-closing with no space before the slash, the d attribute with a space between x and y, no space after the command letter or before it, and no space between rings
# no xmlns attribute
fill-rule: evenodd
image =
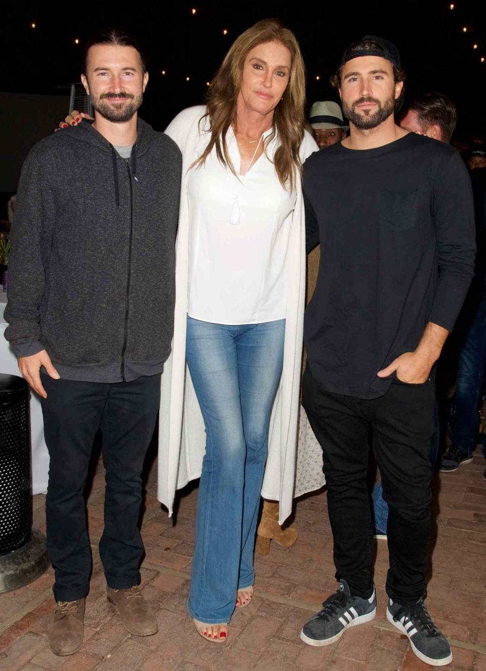
<svg viewBox="0 0 486 671"><path fill-rule="evenodd" d="M411 649L422 662L431 666L452 662L448 640L432 622L424 599L407 606L388 599L387 620L408 637Z"/></svg>

